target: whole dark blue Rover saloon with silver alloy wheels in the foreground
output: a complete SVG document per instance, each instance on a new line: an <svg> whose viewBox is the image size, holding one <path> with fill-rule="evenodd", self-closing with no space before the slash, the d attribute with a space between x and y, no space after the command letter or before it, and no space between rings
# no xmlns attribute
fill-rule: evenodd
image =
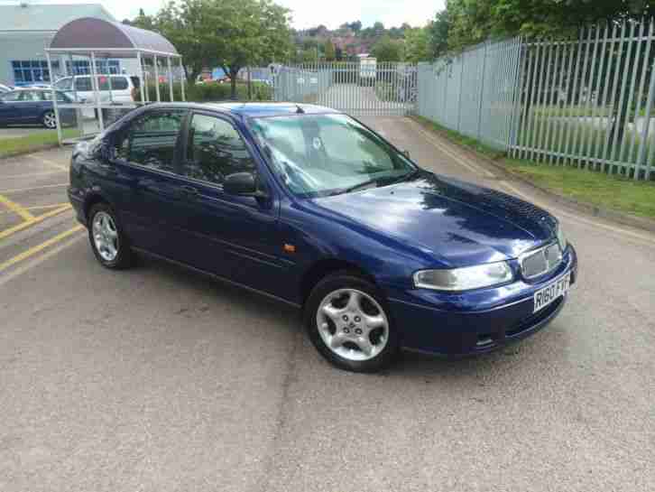
<svg viewBox="0 0 655 492"><path fill-rule="evenodd" d="M69 200L101 265L153 255L291 304L351 371L523 339L577 280L548 212L423 170L326 107L136 109L78 144Z"/></svg>

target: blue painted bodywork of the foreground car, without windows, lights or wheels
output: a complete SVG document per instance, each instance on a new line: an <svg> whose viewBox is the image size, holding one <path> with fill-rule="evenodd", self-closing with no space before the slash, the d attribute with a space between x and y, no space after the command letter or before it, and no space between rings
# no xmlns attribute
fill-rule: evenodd
<svg viewBox="0 0 655 492"><path fill-rule="evenodd" d="M234 197L222 188L126 162L103 162L102 141L143 111L178 107L226 118L244 137L268 199ZM300 105L305 114L334 113ZM532 315L532 295L568 271L568 246L554 272L527 281L516 259L556 239L557 220L545 210L495 190L421 171L412 181L328 198L294 198L270 171L248 129L249 119L290 115L295 104L153 105L135 110L73 155L69 197L86 223L93 200L112 205L134 244L199 270L301 306L306 280L321 265L350 266L374 279L387 298L406 348L467 354L521 339L552 320L556 302ZM302 117L302 115L299 115ZM197 199L180 187L198 188ZM282 246L296 246L285 253ZM426 268L508 261L515 281L464 293L417 289L412 274ZM309 285L310 287L310 285ZM494 343L476 348L479 336Z"/></svg>

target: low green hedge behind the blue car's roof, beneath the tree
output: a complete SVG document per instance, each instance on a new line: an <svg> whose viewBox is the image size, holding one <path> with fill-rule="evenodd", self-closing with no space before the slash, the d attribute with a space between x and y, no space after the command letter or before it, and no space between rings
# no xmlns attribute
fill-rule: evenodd
<svg viewBox="0 0 655 492"><path fill-rule="evenodd" d="M272 87L263 84L262 82L253 82L253 101L270 101L272 100ZM171 91L169 84L160 84L160 97L161 101L171 100ZM200 85L186 85L185 86L187 100L191 102L216 102L216 101L229 101L232 100L232 88L230 84L200 84ZM157 100L157 88L155 84L148 84L148 95L151 102ZM182 91L180 83L173 84L173 97L176 101L182 100ZM140 90L136 91L135 98L137 101L141 100ZM248 100L248 85L245 83L236 84L236 100Z"/></svg>

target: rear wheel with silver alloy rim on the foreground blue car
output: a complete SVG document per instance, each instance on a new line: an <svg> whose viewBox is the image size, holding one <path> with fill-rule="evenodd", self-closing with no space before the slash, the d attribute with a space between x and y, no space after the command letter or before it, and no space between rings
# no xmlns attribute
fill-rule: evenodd
<svg viewBox="0 0 655 492"><path fill-rule="evenodd" d="M105 268L121 270L134 265L134 253L115 212L97 203L88 214L88 239L97 261Z"/></svg>

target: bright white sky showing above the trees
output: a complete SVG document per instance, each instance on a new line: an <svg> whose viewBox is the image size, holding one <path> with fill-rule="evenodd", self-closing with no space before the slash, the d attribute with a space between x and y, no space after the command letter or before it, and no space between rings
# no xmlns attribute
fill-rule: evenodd
<svg viewBox="0 0 655 492"><path fill-rule="evenodd" d="M143 8L146 14L155 14L165 0L28 0L32 4L90 4L98 2L119 21L131 19ZM362 21L364 27L380 21L385 27L409 23L412 26L425 25L438 10L444 8L445 0L275 0L277 4L291 9L292 26L308 29L324 24L336 29L342 23ZM1 2L3 4L17 2Z"/></svg>

